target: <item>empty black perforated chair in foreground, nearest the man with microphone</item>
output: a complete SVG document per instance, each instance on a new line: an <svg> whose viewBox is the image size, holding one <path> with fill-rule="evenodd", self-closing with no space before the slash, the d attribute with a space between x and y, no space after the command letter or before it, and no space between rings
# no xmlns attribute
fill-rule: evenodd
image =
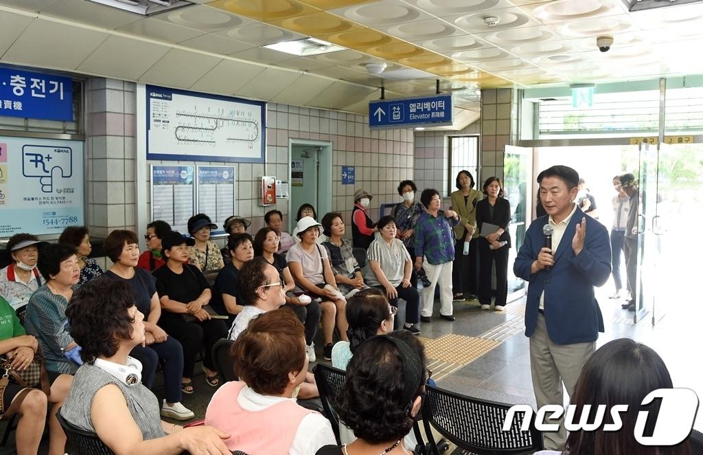
<svg viewBox="0 0 703 455"><path fill-rule="evenodd" d="M431 385L426 389L423 421L430 453L440 453L432 437L432 428L471 454L533 454L543 449L542 434L534 427L534 413L529 431L520 431L524 413L516 413L510 430L503 432L503 419L510 409L509 404L465 397Z"/></svg>

